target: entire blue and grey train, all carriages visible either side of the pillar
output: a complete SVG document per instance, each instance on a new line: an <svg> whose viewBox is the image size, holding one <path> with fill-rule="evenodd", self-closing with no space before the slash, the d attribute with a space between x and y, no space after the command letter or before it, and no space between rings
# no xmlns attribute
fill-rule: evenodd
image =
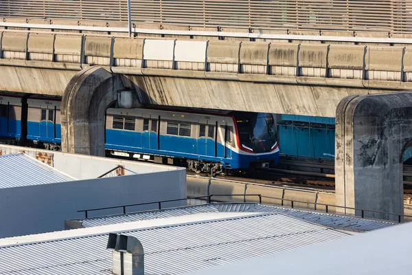
<svg viewBox="0 0 412 275"><path fill-rule="evenodd" d="M58 150L60 99L0 94L0 137ZM106 153L163 164L186 163L196 173L226 173L279 162L271 113L108 109Z"/></svg>

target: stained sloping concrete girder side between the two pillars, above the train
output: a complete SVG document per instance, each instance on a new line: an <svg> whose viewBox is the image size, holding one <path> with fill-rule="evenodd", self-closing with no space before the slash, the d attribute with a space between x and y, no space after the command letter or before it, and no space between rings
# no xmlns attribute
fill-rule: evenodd
<svg viewBox="0 0 412 275"><path fill-rule="evenodd" d="M226 109L270 113L292 113L334 117L345 96L367 94L365 89L254 83L168 76L122 76L133 87L139 102L179 107ZM382 93L376 89L369 92Z"/></svg>

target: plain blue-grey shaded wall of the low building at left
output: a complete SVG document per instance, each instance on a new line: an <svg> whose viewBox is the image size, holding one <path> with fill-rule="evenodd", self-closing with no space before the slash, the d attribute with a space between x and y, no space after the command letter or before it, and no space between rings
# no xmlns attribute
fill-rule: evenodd
<svg viewBox="0 0 412 275"><path fill-rule="evenodd" d="M66 219L84 217L77 210L185 198L183 174L181 170L170 170L0 189L0 237L64 230ZM150 209L157 209L157 204L130 207L127 211ZM121 212L122 208L101 210L90 212L89 217Z"/></svg>

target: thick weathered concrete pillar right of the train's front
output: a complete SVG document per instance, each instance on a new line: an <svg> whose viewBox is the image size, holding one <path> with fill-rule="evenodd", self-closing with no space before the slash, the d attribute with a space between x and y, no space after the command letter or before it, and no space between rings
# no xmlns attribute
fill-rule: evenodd
<svg viewBox="0 0 412 275"><path fill-rule="evenodd" d="M344 98L336 109L336 205L403 214L402 155L411 140L411 92Z"/></svg>

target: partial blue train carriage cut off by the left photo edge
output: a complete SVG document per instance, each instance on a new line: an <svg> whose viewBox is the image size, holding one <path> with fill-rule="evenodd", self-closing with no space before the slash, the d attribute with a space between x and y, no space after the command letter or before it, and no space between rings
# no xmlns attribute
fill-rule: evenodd
<svg viewBox="0 0 412 275"><path fill-rule="evenodd" d="M20 140L21 97L0 94L0 137Z"/></svg>

